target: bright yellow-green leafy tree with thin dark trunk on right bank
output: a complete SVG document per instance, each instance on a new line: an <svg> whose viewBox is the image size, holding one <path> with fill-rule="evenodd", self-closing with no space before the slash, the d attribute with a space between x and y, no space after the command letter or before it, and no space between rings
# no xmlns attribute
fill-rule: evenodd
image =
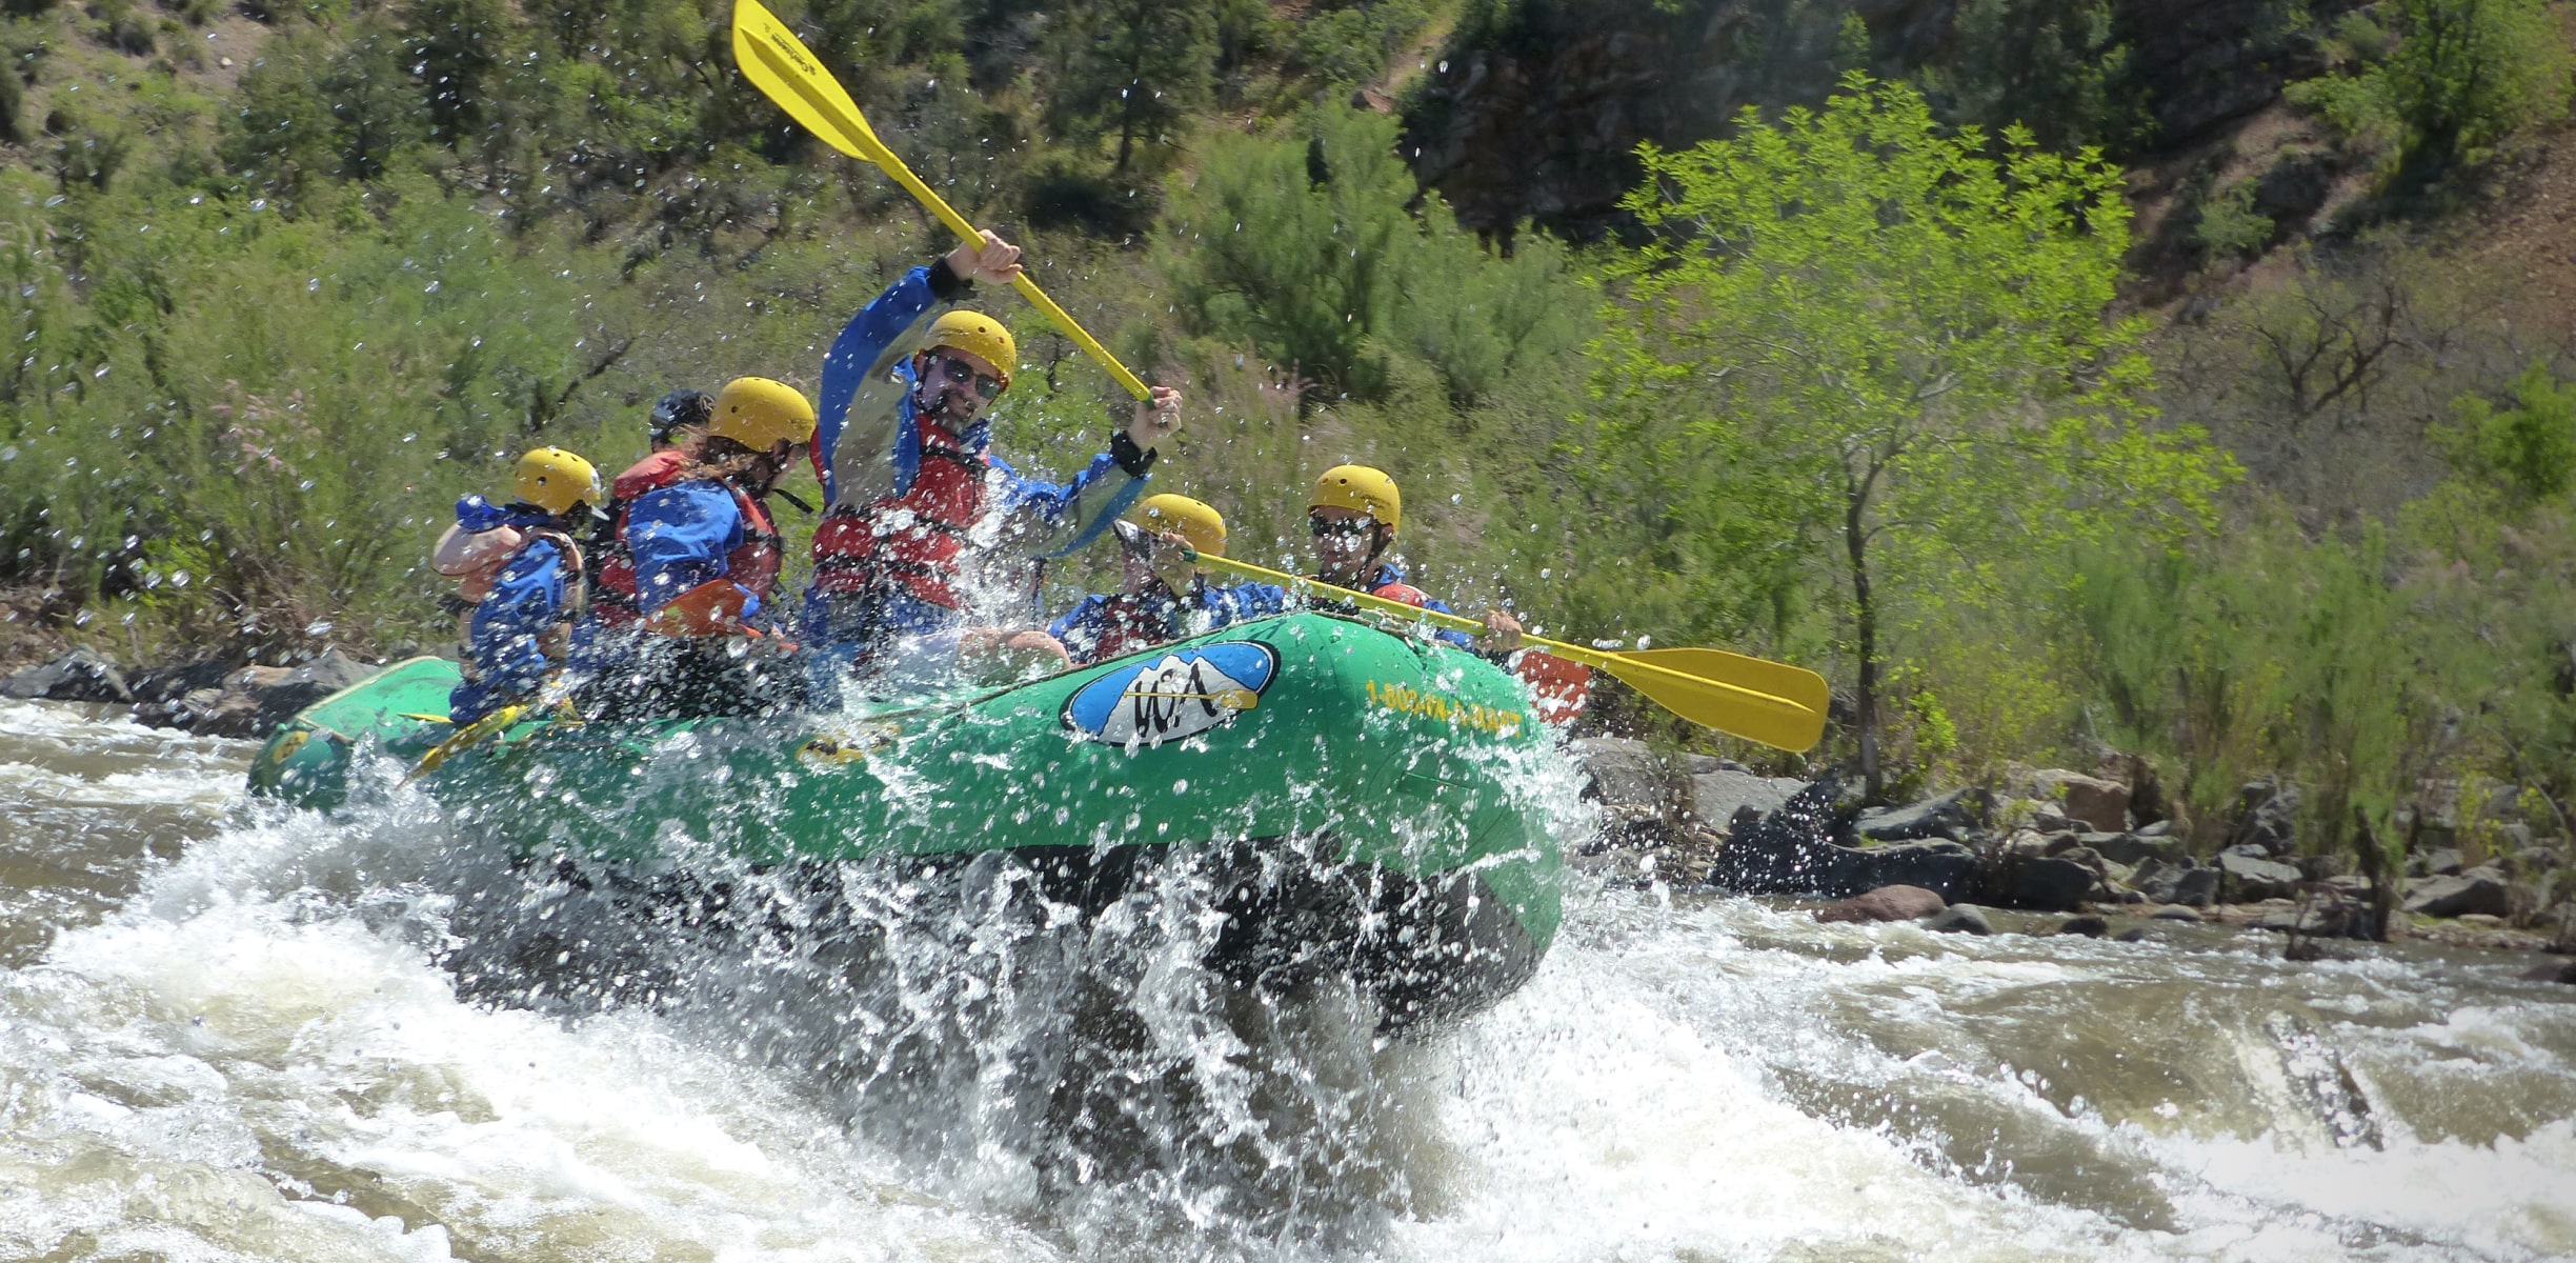
<svg viewBox="0 0 2576 1263"><path fill-rule="evenodd" d="M2097 155L1945 134L1855 72L1821 113L1747 111L1736 139L1641 157L1625 209L1656 240L1610 265L1607 433L1721 454L1674 510L1705 559L1832 557L1875 796L1888 595L1973 598L1981 559L2174 534L2228 464L2143 425L2141 325L2105 320L2128 206Z"/></svg>

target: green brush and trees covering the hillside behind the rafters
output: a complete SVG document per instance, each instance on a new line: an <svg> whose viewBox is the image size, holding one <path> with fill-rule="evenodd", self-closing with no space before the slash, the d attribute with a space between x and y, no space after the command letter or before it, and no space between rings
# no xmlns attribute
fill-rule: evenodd
<svg viewBox="0 0 2576 1263"><path fill-rule="evenodd" d="M1461 75L1558 5L781 13L1190 392L1157 485L1239 554L1296 564L1311 474L1376 461L1425 588L1811 662L1844 699L1814 758L1878 794L2125 750L2205 840L2264 773L2308 789L2316 848L2403 845L2434 796L2512 807L2473 845L2566 833L2576 294L2535 289L2568 258L2481 250L2501 209L2576 198L2561 8L2275 5L2269 95L2192 137L2138 5L1976 0L1929 41L1850 5L1628 8L1734 31L1708 72L1752 101L1602 152L1625 201L1582 242L1489 222L1489 191L1463 229L1409 165L1504 134ZM15 0L8 626L425 647L425 549L520 448L616 469L665 389L811 389L945 240L742 85L726 15ZM994 307L1025 358L1002 448L1066 469L1113 387Z"/></svg>

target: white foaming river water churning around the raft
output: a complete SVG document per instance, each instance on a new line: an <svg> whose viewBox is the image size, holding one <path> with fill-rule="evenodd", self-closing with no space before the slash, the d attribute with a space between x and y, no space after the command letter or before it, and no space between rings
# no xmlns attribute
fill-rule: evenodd
<svg viewBox="0 0 2576 1263"><path fill-rule="evenodd" d="M778 1039L819 992L459 998L438 812L245 804L250 753L0 704L0 1260L2576 1258L2576 987L2524 959L1595 882L1455 1028L1159 961L1131 1057L956 1034L976 1116L904 1119ZM997 1119L1033 1072L1087 1150Z"/></svg>

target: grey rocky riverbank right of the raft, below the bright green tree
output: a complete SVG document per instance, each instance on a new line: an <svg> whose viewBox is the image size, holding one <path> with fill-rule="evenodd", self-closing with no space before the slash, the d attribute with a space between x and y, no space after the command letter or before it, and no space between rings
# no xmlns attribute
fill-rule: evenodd
<svg viewBox="0 0 2576 1263"><path fill-rule="evenodd" d="M1996 786L1862 809L1832 776L1770 778L1623 737L1584 737L1574 753L1607 822L1577 863L1826 900L1824 920L1989 933L1994 907L2063 915L2061 933L2094 936L2105 918L2143 918L2272 930L2293 949L2396 936L2576 949L2568 845L2499 812L2509 794L2486 794L2473 830L2458 802L2401 812L2406 863L2370 874L2349 853L2300 845L2295 786L2249 784L2226 820L2184 830L2138 760L2102 773L2009 768Z"/></svg>

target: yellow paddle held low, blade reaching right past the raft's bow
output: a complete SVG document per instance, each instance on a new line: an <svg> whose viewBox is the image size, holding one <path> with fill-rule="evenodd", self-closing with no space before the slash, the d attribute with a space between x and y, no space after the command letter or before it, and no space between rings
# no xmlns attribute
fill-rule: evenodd
<svg viewBox="0 0 2576 1263"><path fill-rule="evenodd" d="M1265 570L1231 557L1193 552L1190 559L1211 570L1275 583L1296 595L1347 601L1378 613L1419 619L1458 632L1484 632L1484 624L1476 619L1461 619L1455 613L1406 606L1404 601L1386 601L1383 595L1334 588L1321 580ZM1546 650L1556 657L1607 670L1620 683L1646 693L1646 699L1656 706L1664 706L1667 711L1700 727L1713 727L1718 732L1793 753L1806 750L1824 737L1824 706L1832 693L1824 675L1816 675L1814 670L1793 668L1788 662L1767 662L1762 657L1744 657L1726 650L1605 652L1546 637L1520 639L1522 644Z"/></svg>

